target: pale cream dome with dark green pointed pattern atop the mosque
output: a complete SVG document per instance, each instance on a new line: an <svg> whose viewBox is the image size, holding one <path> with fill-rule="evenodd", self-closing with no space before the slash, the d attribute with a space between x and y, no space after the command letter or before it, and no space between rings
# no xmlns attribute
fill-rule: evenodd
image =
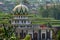
<svg viewBox="0 0 60 40"><path fill-rule="evenodd" d="M17 5L14 9L13 9L14 13L27 13L28 12L28 7L25 5Z"/></svg>

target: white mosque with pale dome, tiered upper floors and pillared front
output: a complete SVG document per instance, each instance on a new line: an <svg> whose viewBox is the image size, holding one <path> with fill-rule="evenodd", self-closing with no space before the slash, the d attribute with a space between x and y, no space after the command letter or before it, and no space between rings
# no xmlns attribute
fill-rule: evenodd
<svg viewBox="0 0 60 40"><path fill-rule="evenodd" d="M16 35L21 38L30 34L33 40L52 40L52 30L46 26L48 20L29 13L28 7L20 4L13 9L11 24L16 27Z"/></svg>

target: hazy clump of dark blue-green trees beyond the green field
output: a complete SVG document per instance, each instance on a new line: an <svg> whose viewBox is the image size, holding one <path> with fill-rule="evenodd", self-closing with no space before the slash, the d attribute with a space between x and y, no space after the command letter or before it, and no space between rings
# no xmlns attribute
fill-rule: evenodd
<svg viewBox="0 0 60 40"><path fill-rule="evenodd" d="M55 19L60 19L60 5L53 5L53 7L43 7L41 6L39 9L40 15L42 15L42 17L52 17Z"/></svg>

